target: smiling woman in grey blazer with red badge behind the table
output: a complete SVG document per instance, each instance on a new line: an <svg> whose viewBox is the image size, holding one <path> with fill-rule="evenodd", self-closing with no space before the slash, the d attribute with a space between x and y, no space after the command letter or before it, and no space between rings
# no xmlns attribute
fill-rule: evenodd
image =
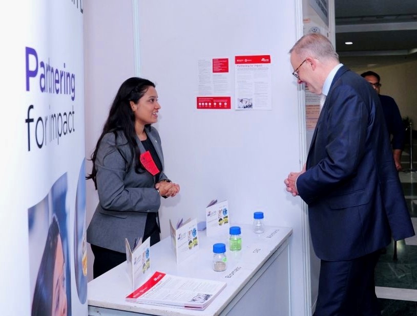
<svg viewBox="0 0 417 316"><path fill-rule="evenodd" d="M99 203L87 229L94 254L94 278L126 260L124 239L133 246L160 240L160 197L173 197L179 186L163 172L155 84L142 78L124 81L110 108L91 156Z"/></svg>

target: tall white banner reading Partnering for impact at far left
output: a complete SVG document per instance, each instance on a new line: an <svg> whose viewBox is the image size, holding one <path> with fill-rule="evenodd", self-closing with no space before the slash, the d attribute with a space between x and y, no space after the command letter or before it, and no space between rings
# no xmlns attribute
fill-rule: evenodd
<svg viewBox="0 0 417 316"><path fill-rule="evenodd" d="M85 156L82 5L71 0L8 2L0 14L1 312L31 314L55 217L65 260L61 284L67 314L86 314L87 278L81 263L85 191L78 184ZM44 276L52 274L49 270ZM47 285L41 287L52 297Z"/></svg>

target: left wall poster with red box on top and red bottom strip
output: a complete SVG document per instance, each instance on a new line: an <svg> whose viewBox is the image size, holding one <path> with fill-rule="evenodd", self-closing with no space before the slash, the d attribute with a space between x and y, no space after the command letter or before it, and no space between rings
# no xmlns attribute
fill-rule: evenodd
<svg viewBox="0 0 417 316"><path fill-rule="evenodd" d="M230 109L231 77L228 58L198 60L197 109Z"/></svg>

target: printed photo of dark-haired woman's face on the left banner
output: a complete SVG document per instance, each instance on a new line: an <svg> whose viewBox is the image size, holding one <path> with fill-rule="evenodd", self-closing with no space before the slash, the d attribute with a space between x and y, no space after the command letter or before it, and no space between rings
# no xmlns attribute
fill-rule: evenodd
<svg viewBox="0 0 417 316"><path fill-rule="evenodd" d="M28 209L31 315L71 315L67 173Z"/></svg>

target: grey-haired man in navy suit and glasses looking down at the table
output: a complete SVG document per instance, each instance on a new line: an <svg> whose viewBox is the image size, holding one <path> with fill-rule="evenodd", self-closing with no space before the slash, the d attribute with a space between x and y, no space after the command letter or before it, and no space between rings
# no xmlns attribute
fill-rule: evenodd
<svg viewBox="0 0 417 316"><path fill-rule="evenodd" d="M286 190L308 204L321 259L315 316L380 315L374 286L379 250L414 235L378 95L339 63L330 41L307 34L290 50L293 75L326 96L301 172Z"/></svg>

